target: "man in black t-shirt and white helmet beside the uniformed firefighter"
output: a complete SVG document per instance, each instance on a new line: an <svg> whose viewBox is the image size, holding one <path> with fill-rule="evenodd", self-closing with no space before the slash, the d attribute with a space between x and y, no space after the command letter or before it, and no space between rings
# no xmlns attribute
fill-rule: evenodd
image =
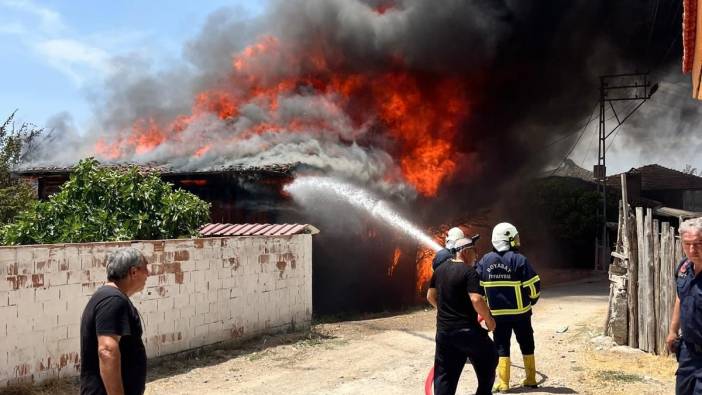
<svg viewBox="0 0 702 395"><path fill-rule="evenodd" d="M495 329L478 274L473 240L462 238L454 246L458 259L440 265L431 277L427 300L437 309L434 394L455 394L467 359L478 378L476 394L491 394L495 382L497 350L488 331L478 323L478 314L489 331Z"/></svg>

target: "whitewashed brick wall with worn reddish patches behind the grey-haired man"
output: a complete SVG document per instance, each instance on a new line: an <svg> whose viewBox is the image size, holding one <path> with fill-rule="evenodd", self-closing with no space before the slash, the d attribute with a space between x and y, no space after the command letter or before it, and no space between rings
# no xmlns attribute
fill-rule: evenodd
<svg viewBox="0 0 702 395"><path fill-rule="evenodd" d="M0 388L78 374L81 313L121 246L149 260L132 297L149 357L309 326L308 234L0 247Z"/></svg>

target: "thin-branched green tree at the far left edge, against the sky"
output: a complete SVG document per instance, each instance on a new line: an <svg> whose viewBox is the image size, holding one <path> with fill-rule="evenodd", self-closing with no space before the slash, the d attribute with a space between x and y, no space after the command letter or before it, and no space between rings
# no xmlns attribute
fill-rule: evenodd
<svg viewBox="0 0 702 395"><path fill-rule="evenodd" d="M28 123L17 126L14 119L13 112L0 125L0 226L11 222L36 200L32 186L13 178L10 172L22 161L43 129Z"/></svg>

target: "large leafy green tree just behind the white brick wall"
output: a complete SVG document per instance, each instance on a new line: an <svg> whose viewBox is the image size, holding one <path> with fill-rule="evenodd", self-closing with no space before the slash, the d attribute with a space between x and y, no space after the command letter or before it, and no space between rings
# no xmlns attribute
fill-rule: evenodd
<svg viewBox="0 0 702 395"><path fill-rule="evenodd" d="M167 239L195 235L209 203L136 166L80 161L61 191L0 231L5 244Z"/></svg>

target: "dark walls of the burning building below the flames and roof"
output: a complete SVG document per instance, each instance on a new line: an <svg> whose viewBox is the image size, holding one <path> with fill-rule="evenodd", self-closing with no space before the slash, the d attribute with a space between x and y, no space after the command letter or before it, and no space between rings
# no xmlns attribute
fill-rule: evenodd
<svg viewBox="0 0 702 395"><path fill-rule="evenodd" d="M144 171L156 171L164 181L210 202L213 222L284 223L309 218L309 214L301 212L283 191L283 186L292 181L293 171L299 171L300 166L199 172L176 172L162 166L140 167ZM71 170L28 168L16 171L15 175L33 184L38 198L48 199L68 180ZM370 220L364 220L360 228L342 230L329 227L325 222L321 227L321 234L313 241L316 313L381 311L417 301L417 292L422 290L421 284L426 278L417 274L416 241Z"/></svg>

